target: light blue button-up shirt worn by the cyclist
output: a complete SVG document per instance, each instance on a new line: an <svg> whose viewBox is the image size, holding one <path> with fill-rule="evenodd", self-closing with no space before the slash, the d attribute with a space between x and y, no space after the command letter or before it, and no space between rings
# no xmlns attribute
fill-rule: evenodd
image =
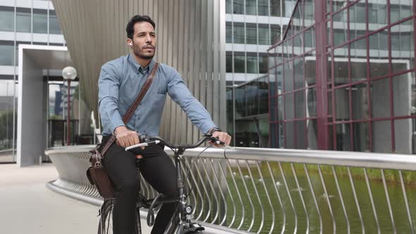
<svg viewBox="0 0 416 234"><path fill-rule="evenodd" d="M155 63L152 59L149 66L142 68L128 54L102 66L98 80L98 104L103 135L111 135L116 127L125 125L122 119L124 113L142 90ZM174 68L162 63L159 63L152 85L126 127L140 134L159 135L166 94L181 106L202 133L216 127L208 111L192 96L181 75Z"/></svg>

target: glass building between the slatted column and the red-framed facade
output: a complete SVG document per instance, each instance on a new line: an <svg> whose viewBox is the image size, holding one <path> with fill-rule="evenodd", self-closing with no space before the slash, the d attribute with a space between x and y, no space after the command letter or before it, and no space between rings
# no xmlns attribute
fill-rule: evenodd
<svg viewBox="0 0 416 234"><path fill-rule="evenodd" d="M281 40L292 0L226 0L227 130L233 145L267 147L267 49Z"/></svg>

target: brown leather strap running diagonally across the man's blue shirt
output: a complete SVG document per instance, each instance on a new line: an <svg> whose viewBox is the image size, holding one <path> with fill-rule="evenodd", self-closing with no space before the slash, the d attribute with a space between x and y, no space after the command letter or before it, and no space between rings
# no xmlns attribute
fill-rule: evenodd
<svg viewBox="0 0 416 234"><path fill-rule="evenodd" d="M152 85L152 81L153 81L154 75L157 72L157 68L159 68L159 63L154 63L152 72L150 73L149 76L147 76L145 85L143 85L142 90L140 90L140 93L137 95L135 101L133 102L133 104L131 104L127 112L124 114L123 123L128 122L128 120L131 118L131 116L135 112L135 109L137 109L137 106L139 106L140 101L142 101L143 97L145 97L147 90L149 90L150 85ZM106 144L104 144L104 147L102 148L102 151L101 151L102 157L107 152L107 150L111 147L111 144L113 144L115 141L116 141L116 136L111 135L110 139L106 142Z"/></svg>

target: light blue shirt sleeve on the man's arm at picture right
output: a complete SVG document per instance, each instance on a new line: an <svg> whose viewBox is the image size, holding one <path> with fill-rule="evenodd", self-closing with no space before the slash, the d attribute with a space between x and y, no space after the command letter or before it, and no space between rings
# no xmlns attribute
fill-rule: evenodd
<svg viewBox="0 0 416 234"><path fill-rule="evenodd" d="M168 79L169 96L181 106L190 121L202 133L207 133L209 129L216 127L207 109L202 106L200 101L193 97L188 87L186 87L185 82L183 82L181 75L175 69L171 69L171 74L168 76Z"/></svg>

